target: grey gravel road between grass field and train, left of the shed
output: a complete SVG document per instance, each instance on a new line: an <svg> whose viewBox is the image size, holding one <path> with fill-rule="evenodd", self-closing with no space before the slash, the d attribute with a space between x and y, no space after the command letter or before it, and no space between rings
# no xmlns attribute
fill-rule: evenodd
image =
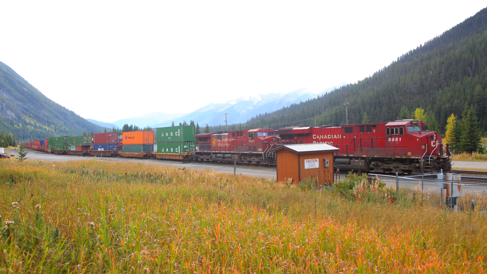
<svg viewBox="0 0 487 274"><path fill-rule="evenodd" d="M65 161L82 161L82 160L97 160L97 161L122 161L122 162L147 162L154 165L174 166L179 168L191 168L195 170L210 169L217 172L233 174L233 165L228 163L203 163L190 161L189 163L182 163L176 160L155 160L155 159L137 159L124 157L82 157L73 155L56 155L51 153L39 152L36 150L25 149L27 158L37 160L49 160L56 162ZM6 153L17 156L14 149L5 150ZM256 165L237 165L237 174L246 176L253 176L258 178L276 178L276 167L274 166L256 166Z"/></svg>

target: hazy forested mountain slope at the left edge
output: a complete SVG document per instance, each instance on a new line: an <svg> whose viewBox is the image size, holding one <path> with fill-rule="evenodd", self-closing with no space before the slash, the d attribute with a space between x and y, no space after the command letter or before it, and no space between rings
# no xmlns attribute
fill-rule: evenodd
<svg viewBox="0 0 487 274"><path fill-rule="evenodd" d="M0 132L11 132L21 140L39 140L104 129L45 97L0 62Z"/></svg>

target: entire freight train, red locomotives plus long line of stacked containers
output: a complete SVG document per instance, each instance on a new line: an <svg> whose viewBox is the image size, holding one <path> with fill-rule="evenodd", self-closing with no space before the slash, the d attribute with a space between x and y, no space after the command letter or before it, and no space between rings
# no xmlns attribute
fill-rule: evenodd
<svg viewBox="0 0 487 274"><path fill-rule="evenodd" d="M151 131L126 132L122 138L116 133L94 134L90 146L68 148L76 140L73 137L53 137L24 145L57 154L276 165L276 155L270 152L273 148L285 144L327 143L340 149L334 161L334 167L340 170L399 174L437 173L441 169L451 172L448 144L444 152L441 136L428 131L428 125L420 120L194 133L194 126L176 126L157 128L155 137ZM154 140L157 151L153 151Z"/></svg>

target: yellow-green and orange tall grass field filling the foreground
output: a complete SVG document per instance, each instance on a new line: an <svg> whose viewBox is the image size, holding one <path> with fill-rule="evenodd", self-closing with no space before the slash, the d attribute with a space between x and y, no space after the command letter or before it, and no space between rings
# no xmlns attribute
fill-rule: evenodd
<svg viewBox="0 0 487 274"><path fill-rule="evenodd" d="M1 273L486 268L486 215L389 192L361 196L358 187L363 198L354 200L210 170L99 161L0 160L0 183Z"/></svg>

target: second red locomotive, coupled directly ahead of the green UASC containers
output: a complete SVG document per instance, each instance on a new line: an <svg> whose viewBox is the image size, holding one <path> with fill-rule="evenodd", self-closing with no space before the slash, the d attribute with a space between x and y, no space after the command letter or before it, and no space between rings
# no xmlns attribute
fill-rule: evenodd
<svg viewBox="0 0 487 274"><path fill-rule="evenodd" d="M281 138L273 129L258 128L195 135L195 158L198 161L234 162L275 165L275 154L268 151L279 145Z"/></svg>

